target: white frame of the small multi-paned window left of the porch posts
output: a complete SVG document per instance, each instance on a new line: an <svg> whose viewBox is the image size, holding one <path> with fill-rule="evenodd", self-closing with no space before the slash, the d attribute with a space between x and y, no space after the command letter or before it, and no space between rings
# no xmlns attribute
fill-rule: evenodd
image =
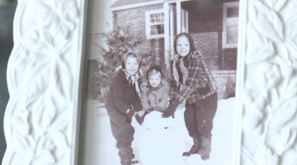
<svg viewBox="0 0 297 165"><path fill-rule="evenodd" d="M163 9L158 9L158 10L150 10L145 12L145 17L146 17L146 39L154 39L154 38L164 38L164 34L157 34L157 35L151 35L151 21L150 21L150 15L151 14L158 14L158 13L163 13ZM163 16L164 17L164 16ZM165 19L165 18L164 18ZM164 25L164 21L162 23ZM164 29L165 31L165 29Z"/></svg>

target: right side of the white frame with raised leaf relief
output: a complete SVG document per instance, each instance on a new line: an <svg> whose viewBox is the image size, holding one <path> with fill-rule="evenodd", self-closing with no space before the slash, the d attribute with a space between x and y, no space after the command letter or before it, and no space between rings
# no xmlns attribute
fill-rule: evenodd
<svg viewBox="0 0 297 165"><path fill-rule="evenodd" d="M247 3L241 164L297 164L296 8Z"/></svg>

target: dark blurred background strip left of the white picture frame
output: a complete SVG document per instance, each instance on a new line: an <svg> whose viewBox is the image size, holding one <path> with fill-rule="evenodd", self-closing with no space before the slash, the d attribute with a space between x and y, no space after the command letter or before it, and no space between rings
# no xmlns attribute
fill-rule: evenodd
<svg viewBox="0 0 297 165"><path fill-rule="evenodd" d="M13 48L13 17L17 6L16 0L0 0L0 162L6 149L3 118L9 99L6 71L7 62Z"/></svg>

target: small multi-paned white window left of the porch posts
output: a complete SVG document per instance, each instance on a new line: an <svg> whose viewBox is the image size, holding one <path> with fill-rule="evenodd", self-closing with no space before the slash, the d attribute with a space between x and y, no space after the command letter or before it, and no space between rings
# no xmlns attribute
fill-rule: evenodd
<svg viewBox="0 0 297 165"><path fill-rule="evenodd" d="M153 10L146 12L146 38L164 37L164 12Z"/></svg>

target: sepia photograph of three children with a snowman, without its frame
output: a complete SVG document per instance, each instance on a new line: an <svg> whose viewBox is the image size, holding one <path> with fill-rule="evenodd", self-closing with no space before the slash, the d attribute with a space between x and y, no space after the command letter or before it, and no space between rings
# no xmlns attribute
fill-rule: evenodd
<svg viewBox="0 0 297 165"><path fill-rule="evenodd" d="M233 164L238 16L234 0L89 0L78 164Z"/></svg>

